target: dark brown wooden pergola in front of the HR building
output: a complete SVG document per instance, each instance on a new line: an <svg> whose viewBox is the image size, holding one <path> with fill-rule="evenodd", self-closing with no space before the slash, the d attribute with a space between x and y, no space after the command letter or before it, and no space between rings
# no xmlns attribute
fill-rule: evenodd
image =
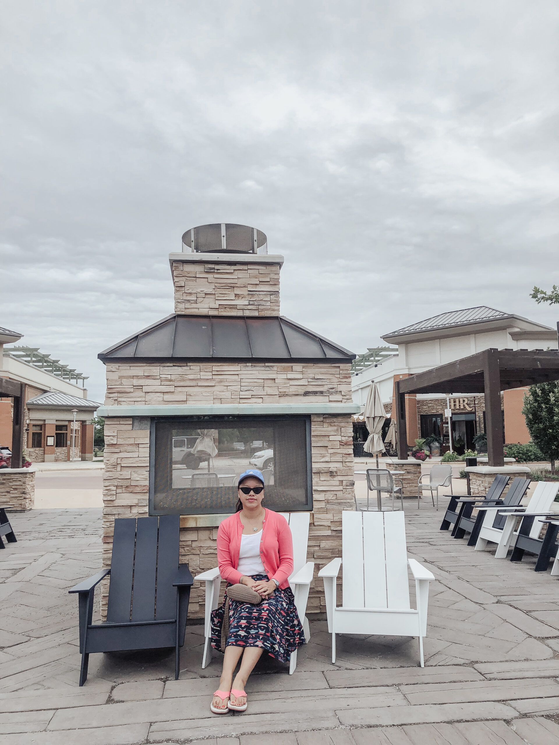
<svg viewBox="0 0 559 745"><path fill-rule="evenodd" d="M484 393L487 457L490 466L504 466L501 391L559 380L559 351L553 349L485 349L425 373L394 383L398 457L408 458L406 393Z"/></svg>

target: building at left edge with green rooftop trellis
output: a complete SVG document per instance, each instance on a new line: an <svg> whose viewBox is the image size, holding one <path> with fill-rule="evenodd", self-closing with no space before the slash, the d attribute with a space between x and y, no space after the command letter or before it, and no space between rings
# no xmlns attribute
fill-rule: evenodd
<svg viewBox="0 0 559 745"><path fill-rule="evenodd" d="M28 460L92 460L92 417L99 404L87 399L86 376L39 349L4 346L21 338L17 332L0 329L0 376L25 385ZM12 447L12 418L13 399L0 399L0 445L8 448Z"/></svg>

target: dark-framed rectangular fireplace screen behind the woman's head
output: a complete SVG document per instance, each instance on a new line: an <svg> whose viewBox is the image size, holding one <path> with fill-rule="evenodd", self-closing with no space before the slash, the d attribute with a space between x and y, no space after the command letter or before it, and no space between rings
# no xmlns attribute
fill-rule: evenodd
<svg viewBox="0 0 559 745"><path fill-rule="evenodd" d="M150 514L233 513L237 481L256 468L265 506L312 510L309 416L152 419Z"/></svg>

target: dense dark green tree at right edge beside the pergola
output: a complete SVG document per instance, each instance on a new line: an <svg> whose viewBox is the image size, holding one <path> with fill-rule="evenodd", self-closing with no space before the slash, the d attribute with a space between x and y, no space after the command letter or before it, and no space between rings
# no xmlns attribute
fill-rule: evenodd
<svg viewBox="0 0 559 745"><path fill-rule="evenodd" d="M522 413L534 445L551 460L559 458L559 381L531 385L524 396Z"/></svg>

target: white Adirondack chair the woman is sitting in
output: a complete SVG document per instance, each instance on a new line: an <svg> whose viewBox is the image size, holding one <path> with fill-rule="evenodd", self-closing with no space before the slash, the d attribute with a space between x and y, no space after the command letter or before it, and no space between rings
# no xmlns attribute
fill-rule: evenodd
<svg viewBox="0 0 559 745"><path fill-rule="evenodd" d="M305 640L311 638L309 621L305 615L306 601L309 598L309 587L312 582L312 575L315 571L315 562L306 560L306 550L309 543L309 513L280 513L285 517L291 528L293 536L293 573L289 577L289 586L295 596L295 607L299 615ZM221 587L221 577L219 568L209 569L198 574L195 580L202 580L206 583L206 614L204 623L204 635L206 642L203 647L202 669L206 668L212 662L212 611L218 607L219 591ZM289 674L293 675L297 667L297 650L291 653L289 660Z"/></svg>

